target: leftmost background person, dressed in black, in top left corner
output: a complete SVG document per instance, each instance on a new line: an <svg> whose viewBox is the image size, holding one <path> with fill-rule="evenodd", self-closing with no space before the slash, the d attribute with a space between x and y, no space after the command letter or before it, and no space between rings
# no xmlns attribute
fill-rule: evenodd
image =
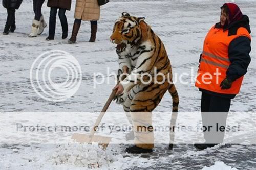
<svg viewBox="0 0 256 170"><path fill-rule="evenodd" d="M16 29L15 25L15 10L20 7L23 0L3 0L3 6L7 9L7 19L5 23L5 29L3 34L9 34L9 31L12 33Z"/></svg>

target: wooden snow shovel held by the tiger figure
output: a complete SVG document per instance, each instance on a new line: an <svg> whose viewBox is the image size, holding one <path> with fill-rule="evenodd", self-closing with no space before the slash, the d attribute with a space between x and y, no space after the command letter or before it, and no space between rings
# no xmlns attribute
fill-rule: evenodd
<svg viewBox="0 0 256 170"><path fill-rule="evenodd" d="M92 144L92 142L96 142L99 145L101 145L103 150L105 150L106 147L108 147L111 137L98 136L98 135L94 135L94 133L96 132L106 110L109 108L111 101L114 99L116 91L117 91L117 89L112 90L112 93L110 94L108 101L106 101L103 109L101 110L100 115L98 116L98 118L91 130L90 135L75 133L72 135L72 139L74 139L75 141L77 141L79 143Z"/></svg>

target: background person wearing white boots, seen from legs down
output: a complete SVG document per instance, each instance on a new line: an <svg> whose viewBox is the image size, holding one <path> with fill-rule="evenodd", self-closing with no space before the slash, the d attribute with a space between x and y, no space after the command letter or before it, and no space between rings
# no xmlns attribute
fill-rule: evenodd
<svg viewBox="0 0 256 170"><path fill-rule="evenodd" d="M41 13L42 4L44 4L44 2L45 0L33 0L33 10L35 17L32 22L31 33L29 34L29 37L36 37L37 35L42 34L47 26L44 16Z"/></svg>

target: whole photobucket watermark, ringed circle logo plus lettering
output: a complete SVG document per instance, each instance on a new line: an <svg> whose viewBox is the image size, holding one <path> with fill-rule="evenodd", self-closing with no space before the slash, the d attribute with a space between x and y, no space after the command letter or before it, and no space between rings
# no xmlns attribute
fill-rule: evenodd
<svg viewBox="0 0 256 170"><path fill-rule="evenodd" d="M102 84L116 84L118 81L123 85L128 83L169 84L181 83L183 85L211 83L220 84L222 75L219 68L215 71L203 74L197 72L193 67L184 72L164 72L153 67L151 71L143 72L133 69L131 72L122 72L107 67L105 71L93 72L93 88ZM128 69L129 70L129 69ZM117 73L118 72L118 73ZM113 77L115 80L113 81ZM224 78L224 76L223 76ZM124 80L125 79L125 80ZM53 102L61 102L73 96L79 89L82 82L82 71L80 64L74 56L65 51L52 50L39 55L33 62L30 69L30 82L34 91L40 98Z"/></svg>

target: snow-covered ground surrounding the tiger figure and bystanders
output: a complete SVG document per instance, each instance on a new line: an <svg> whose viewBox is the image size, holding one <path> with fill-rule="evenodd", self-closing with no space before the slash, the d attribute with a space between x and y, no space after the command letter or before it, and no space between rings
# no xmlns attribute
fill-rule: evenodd
<svg viewBox="0 0 256 170"><path fill-rule="evenodd" d="M93 88L93 74L102 72L106 74L107 67L110 72L116 72L118 67L115 46L109 42L115 20L121 12L129 12L131 15L145 17L146 22L160 36L165 44L168 56L173 65L174 74L187 72L191 69L196 72L199 54L208 29L219 21L220 6L224 1L112 1L101 8L101 19L98 25L97 40L94 44L87 42L90 37L90 25L82 22L78 34L77 43L67 44L67 40L61 39L60 22L57 19L56 35L54 41L45 41L48 28L44 34L37 38L28 38L30 25L33 19L32 0L25 0L19 10L16 11L15 33L1 37L1 112L97 112L102 109L104 102L111 92L114 82L111 84L97 85ZM232 100L230 111L254 112L256 109L256 9L255 1L236 1L244 14L250 18L252 37L252 62L249 66L236 99ZM69 34L73 24L75 3L73 1L71 12L67 12L69 22ZM4 29L6 9L1 6L1 31ZM46 3L42 9L46 20L49 18L49 8ZM69 36L70 37L70 36ZM63 50L72 54L79 62L82 69L82 83L79 90L72 98L64 102L49 102L39 98L30 84L29 71L33 61L40 54L49 50ZM62 81L62 75L57 75L56 81ZM113 79L112 79L113 80ZM184 76L184 81L190 81L191 76ZM181 84L176 87L180 96L181 112L200 111L200 92L194 87L194 83ZM156 108L158 112L169 112L172 103L169 94L166 94ZM112 104L110 112L121 112L122 107ZM37 114L37 113L35 113ZM39 113L38 113L39 114ZM3 115L3 114L2 114ZM253 115L252 115L253 116ZM255 116L255 114L254 114ZM11 116L6 116L12 119ZM92 116L95 120L95 115ZM58 118L58 117L57 117ZM55 120L58 120L55 117ZM65 119L66 117L61 117ZM157 117L164 120L164 115ZM169 116L168 116L169 118ZM0 119L1 125L6 126L7 119ZM26 119L26 117L24 117ZM186 117L179 117L185 120ZM200 119L200 117L198 117ZM67 119L69 120L69 119ZM109 122L114 120L125 121L123 114L110 116ZM252 119L253 120L253 119ZM255 120L255 119L254 119ZM53 122L53 121L50 121ZM93 122L93 120L91 121ZM114 124L114 123L113 123ZM3 135L4 134L4 135ZM3 136L2 136L3 135ZM62 134L65 136L66 134ZM65 155L97 155L102 169L202 169L204 166L212 166L216 161L237 169L254 169L256 167L256 145L232 144L217 146L205 151L197 151L191 144L176 145L174 151L167 151L166 145L157 144L152 155L129 155L123 152L125 145L111 144L105 153L88 146L69 146L56 143L46 144L41 139L40 144L22 142L19 138L8 139L8 134L1 133L2 147L0 169L84 169L81 162L74 163L56 161ZM49 137L50 136L50 137ZM58 135L47 134L46 138L57 139ZM124 137L124 134L120 138ZM9 140L9 142L8 142ZM5 141L5 142L3 142ZM81 149L83 148L83 149ZM65 152L67 149L67 152ZM87 150L88 149L88 150ZM86 152L87 151L87 152ZM82 155L85 156L86 155ZM81 157L82 157L81 156ZM66 158L66 157L65 157ZM69 157L70 158L70 157ZM64 158L63 158L64 159ZM92 159L84 158L84 164L91 163ZM14 163L15 162L15 163ZM56 165L57 162L57 165Z"/></svg>

